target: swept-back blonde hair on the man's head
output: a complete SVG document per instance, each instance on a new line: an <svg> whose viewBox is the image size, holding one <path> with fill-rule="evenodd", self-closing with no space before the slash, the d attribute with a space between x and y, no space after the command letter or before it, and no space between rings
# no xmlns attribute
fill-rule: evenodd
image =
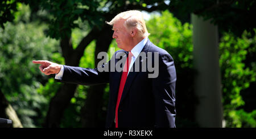
<svg viewBox="0 0 256 139"><path fill-rule="evenodd" d="M146 23L143 19L143 15L141 11L138 10L130 10L121 12L116 15L110 22L106 21L109 25L114 25L118 20L125 20L124 26L126 29L137 28L138 35L140 37L147 37L150 33L147 32Z"/></svg>

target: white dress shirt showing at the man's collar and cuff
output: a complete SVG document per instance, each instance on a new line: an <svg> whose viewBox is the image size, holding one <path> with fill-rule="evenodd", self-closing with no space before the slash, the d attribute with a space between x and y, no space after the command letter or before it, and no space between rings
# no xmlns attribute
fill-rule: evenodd
<svg viewBox="0 0 256 139"><path fill-rule="evenodd" d="M135 46L133 47L133 49L131 49L131 53L133 54L133 57L131 57L131 63L130 63L130 65L133 65L133 63L135 62L135 59L137 59L139 53L141 53L141 51L142 51L143 47L146 45L146 43L147 43L147 37L144 38L144 39L143 39L141 42L139 42L137 45L135 45ZM133 66L129 66L128 74L129 74L129 72L130 72L131 67L133 67ZM63 76L63 72L64 72L64 66L61 65L60 72L55 75L55 79L61 80L61 79L62 79L62 76Z"/></svg>

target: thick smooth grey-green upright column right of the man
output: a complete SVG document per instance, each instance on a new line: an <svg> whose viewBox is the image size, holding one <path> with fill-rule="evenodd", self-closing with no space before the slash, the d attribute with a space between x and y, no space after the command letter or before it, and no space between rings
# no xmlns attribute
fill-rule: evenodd
<svg viewBox="0 0 256 139"><path fill-rule="evenodd" d="M193 57L197 70L195 92L199 100L196 121L200 127L222 127L221 80L217 27L192 14Z"/></svg>

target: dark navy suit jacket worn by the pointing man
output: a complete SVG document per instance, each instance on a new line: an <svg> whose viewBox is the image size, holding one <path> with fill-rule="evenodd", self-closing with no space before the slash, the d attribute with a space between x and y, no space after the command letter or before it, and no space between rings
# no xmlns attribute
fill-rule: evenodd
<svg viewBox="0 0 256 139"><path fill-rule="evenodd" d="M115 63L119 54L124 50L115 52ZM159 75L156 78L148 78L149 71L129 72L121 101L118 108L118 127L175 127L175 82L176 71L174 60L166 50L152 44L149 40L142 52L158 52ZM122 55L124 56L124 55ZM154 56L154 55L153 55ZM146 55L146 60L149 59ZM110 60L110 61L111 61ZM138 57L142 66L142 58ZM104 66L107 66L106 63ZM135 63L134 63L135 64ZM133 64L133 69L134 69ZM154 66L153 66L154 67ZM142 68L140 68L141 70ZM122 72L99 72L98 68L81 68L64 66L64 74L61 82L69 82L82 85L96 85L109 82L109 106L106 118L106 127L113 127L115 118L115 105L117 102L119 82Z"/></svg>

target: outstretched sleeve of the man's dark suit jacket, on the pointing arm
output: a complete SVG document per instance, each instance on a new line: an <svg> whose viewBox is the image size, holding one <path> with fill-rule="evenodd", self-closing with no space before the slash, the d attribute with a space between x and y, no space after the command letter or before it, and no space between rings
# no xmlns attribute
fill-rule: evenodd
<svg viewBox="0 0 256 139"><path fill-rule="evenodd" d="M81 85L104 84L109 82L109 72L100 72L97 68L81 68L64 65L63 77L57 81Z"/></svg>

